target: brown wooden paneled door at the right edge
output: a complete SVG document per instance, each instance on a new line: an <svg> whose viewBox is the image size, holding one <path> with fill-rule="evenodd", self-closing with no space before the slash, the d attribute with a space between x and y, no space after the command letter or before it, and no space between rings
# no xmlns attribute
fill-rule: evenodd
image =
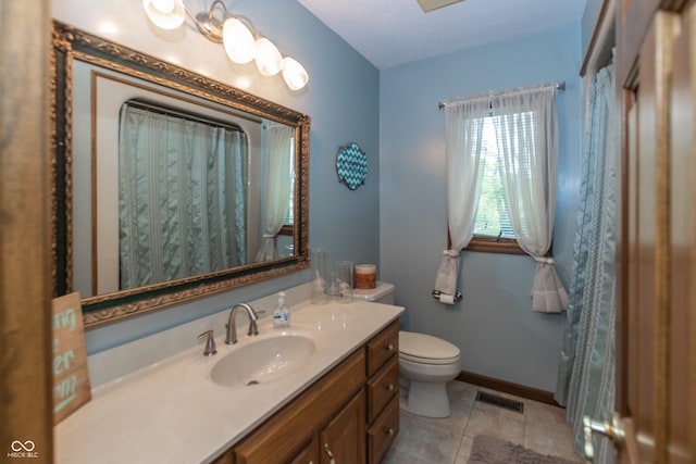
<svg viewBox="0 0 696 464"><path fill-rule="evenodd" d="M633 63L618 75L624 117L617 411L625 432L619 461L693 463L695 9L691 1L646 20L632 3L633 12L619 17L619 37L641 42L619 48L623 68ZM644 34L632 17L641 17ZM630 50L637 54L625 55Z"/></svg>

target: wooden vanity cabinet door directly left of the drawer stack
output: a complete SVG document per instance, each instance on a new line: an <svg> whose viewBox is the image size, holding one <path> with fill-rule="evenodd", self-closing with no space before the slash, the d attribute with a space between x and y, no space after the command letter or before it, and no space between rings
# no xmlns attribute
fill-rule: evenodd
<svg viewBox="0 0 696 464"><path fill-rule="evenodd" d="M364 464L365 393L360 390L320 434L322 464Z"/></svg>

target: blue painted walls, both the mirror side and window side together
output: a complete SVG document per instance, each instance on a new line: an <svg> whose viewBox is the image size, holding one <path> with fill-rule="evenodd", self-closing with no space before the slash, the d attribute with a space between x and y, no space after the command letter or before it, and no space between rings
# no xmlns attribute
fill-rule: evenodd
<svg viewBox="0 0 696 464"><path fill-rule="evenodd" d="M194 11L210 3L187 0ZM311 115L310 244L327 248L332 261L376 263L408 309L405 324L459 346L465 371L552 391L564 316L530 311L529 258L465 252L464 302L444 306L430 296L447 238L444 115L437 102L566 80L554 248L567 284L580 178L580 25L380 72L295 1L227 3L304 64L308 88L291 92L277 76L232 64L222 47L190 25L174 33L154 29L139 1L55 0L52 8L60 21ZM363 148L370 165L366 184L356 191L335 174L336 151L350 141ZM87 349L91 354L307 279L307 272L297 273L91 329Z"/></svg>

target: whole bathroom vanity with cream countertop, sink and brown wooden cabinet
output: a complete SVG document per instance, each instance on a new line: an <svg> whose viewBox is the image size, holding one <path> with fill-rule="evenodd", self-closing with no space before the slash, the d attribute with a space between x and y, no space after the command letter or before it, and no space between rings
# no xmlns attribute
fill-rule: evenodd
<svg viewBox="0 0 696 464"><path fill-rule="evenodd" d="M192 338L194 348L95 389L55 427L57 462L378 463L399 427L402 311L301 304L289 329L264 317L258 337L239 318L239 342L216 337L213 356ZM257 348L275 343L288 347L287 367L253 372ZM243 374L217 376L221 360Z"/></svg>

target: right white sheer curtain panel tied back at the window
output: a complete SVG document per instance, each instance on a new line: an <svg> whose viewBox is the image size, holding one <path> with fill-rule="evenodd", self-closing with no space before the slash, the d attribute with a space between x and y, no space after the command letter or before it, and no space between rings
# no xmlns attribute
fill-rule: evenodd
<svg viewBox="0 0 696 464"><path fill-rule="evenodd" d="M560 313L568 296L546 254L554 236L558 172L556 88L512 90L496 98L500 175L518 243L536 261L532 310Z"/></svg>

